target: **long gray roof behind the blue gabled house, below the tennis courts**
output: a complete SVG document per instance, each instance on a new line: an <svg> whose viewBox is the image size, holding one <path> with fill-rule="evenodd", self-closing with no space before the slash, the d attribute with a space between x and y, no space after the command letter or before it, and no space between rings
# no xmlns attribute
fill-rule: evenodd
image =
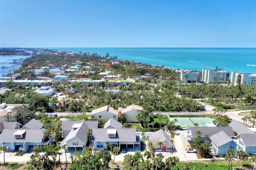
<svg viewBox="0 0 256 170"><path fill-rule="evenodd" d="M191 133L193 137L196 137L196 132L200 131L202 133L202 137L204 137L205 134L208 134L209 136L212 136L218 132L224 131L228 136L234 137L234 131L232 127L190 127Z"/></svg>

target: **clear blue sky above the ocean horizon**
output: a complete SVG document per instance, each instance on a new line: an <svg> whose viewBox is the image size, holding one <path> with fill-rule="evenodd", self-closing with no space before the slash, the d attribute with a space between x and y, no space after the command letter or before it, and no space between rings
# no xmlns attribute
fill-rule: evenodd
<svg viewBox="0 0 256 170"><path fill-rule="evenodd" d="M0 0L0 47L256 47L256 1Z"/></svg>

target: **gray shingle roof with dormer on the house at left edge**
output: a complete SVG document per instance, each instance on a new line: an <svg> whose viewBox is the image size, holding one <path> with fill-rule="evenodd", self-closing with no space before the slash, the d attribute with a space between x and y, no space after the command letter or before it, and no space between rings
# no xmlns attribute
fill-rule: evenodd
<svg viewBox="0 0 256 170"><path fill-rule="evenodd" d="M0 142L43 142L44 130L24 129L26 130L23 138L14 138L13 134L20 129L4 129L0 134Z"/></svg>

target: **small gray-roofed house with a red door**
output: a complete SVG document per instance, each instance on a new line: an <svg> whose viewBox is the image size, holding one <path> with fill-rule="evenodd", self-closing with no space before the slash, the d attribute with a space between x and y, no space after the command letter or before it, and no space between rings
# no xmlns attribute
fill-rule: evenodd
<svg viewBox="0 0 256 170"><path fill-rule="evenodd" d="M172 143L170 136L162 129L148 134L147 138L152 142L156 149L161 149L162 151L172 151L174 148L174 144ZM163 142L161 148L157 142Z"/></svg>

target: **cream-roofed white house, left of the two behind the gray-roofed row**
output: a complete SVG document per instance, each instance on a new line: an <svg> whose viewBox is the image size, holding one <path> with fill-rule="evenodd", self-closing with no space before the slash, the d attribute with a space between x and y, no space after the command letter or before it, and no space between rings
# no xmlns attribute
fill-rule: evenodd
<svg viewBox="0 0 256 170"><path fill-rule="evenodd" d="M91 119L102 119L108 121L110 118L118 120L118 111L113 107L104 106L98 109L94 109L90 114Z"/></svg>

